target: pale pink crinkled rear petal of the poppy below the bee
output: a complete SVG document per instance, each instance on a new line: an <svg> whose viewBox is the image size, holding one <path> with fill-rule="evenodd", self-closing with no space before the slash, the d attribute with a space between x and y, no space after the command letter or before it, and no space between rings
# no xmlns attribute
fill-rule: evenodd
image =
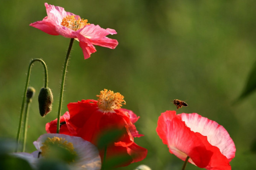
<svg viewBox="0 0 256 170"><path fill-rule="evenodd" d="M223 126L218 125L217 122L202 117L197 113L182 113L178 116L181 117L192 131L207 136L209 143L218 147L221 153L226 156L229 161L235 157L235 144Z"/></svg>

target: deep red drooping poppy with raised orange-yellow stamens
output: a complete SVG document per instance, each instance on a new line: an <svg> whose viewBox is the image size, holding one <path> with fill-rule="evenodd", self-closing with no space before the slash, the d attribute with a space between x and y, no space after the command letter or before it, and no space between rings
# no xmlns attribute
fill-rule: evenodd
<svg viewBox="0 0 256 170"><path fill-rule="evenodd" d="M70 118L64 119L66 125L61 125L60 133L80 136L92 142L98 146L103 159L105 149L99 146L99 141L106 133L119 130L122 134L108 143L106 162L120 156L125 157L126 159L122 160L121 164L115 162L114 166L119 167L143 160L147 155L147 150L134 143L134 137L143 136L138 133L133 124L139 117L132 111L120 108L122 104L125 104L121 94L105 89L97 96L98 101L88 99L68 104ZM62 120L63 118L64 116L61 116ZM55 133L56 125L57 120L48 123L47 132ZM62 128L64 130L61 130Z"/></svg>

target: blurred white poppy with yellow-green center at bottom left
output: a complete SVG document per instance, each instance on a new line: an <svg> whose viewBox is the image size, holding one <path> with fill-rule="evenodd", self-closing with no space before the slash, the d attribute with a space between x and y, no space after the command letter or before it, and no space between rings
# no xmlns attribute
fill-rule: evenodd
<svg viewBox="0 0 256 170"><path fill-rule="evenodd" d="M36 169L41 159L63 161L61 159L63 156L62 153L66 153L69 159L64 159L64 161L72 170L101 169L101 158L97 147L80 137L58 133L46 133L41 135L33 144L37 149L35 152L31 154L12 153L12 155L27 160L31 166Z"/></svg>

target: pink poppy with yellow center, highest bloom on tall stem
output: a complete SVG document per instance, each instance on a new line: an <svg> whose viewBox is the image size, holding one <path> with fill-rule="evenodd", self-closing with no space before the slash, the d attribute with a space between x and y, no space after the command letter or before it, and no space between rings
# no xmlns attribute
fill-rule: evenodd
<svg viewBox="0 0 256 170"><path fill-rule="evenodd" d="M67 12L60 6L44 3L47 17L43 20L31 23L29 26L40 29L50 35L62 35L67 38L75 38L83 50L84 59L96 52L94 45L114 49L118 45L117 40L106 37L116 34L114 29L104 29L99 25L87 23L79 15Z"/></svg>

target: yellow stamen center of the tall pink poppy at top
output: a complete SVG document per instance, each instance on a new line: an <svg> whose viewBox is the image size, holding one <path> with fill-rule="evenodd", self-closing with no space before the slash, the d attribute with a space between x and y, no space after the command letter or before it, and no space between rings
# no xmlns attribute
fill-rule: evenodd
<svg viewBox="0 0 256 170"><path fill-rule="evenodd" d="M90 24L87 22L88 20L81 19L79 16L67 15L62 19L61 26L64 26L76 31Z"/></svg>

